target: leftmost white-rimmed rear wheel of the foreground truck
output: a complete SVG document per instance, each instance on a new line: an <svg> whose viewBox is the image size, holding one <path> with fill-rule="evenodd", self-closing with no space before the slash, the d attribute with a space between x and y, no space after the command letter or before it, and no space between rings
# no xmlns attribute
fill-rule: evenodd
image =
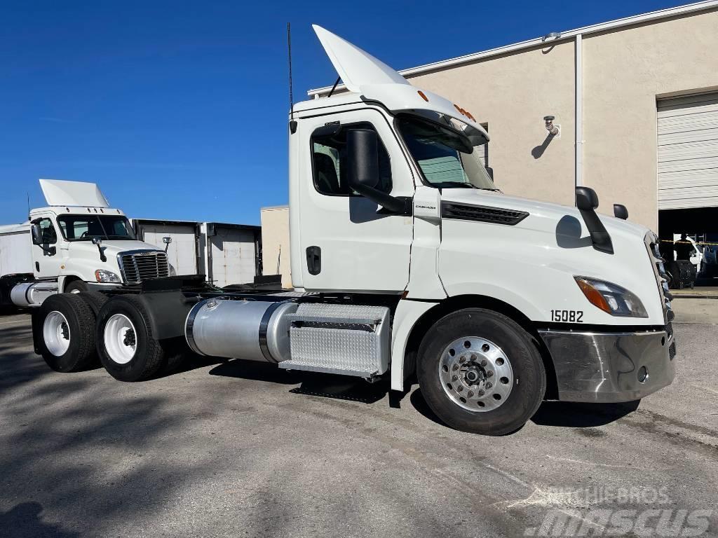
<svg viewBox="0 0 718 538"><path fill-rule="evenodd" d="M52 295L34 313L37 350L56 372L90 367L95 355L95 314L75 294Z"/></svg>

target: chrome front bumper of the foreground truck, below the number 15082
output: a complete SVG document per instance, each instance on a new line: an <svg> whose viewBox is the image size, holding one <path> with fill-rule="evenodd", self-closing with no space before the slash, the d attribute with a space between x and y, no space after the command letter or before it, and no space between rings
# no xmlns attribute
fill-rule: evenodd
<svg viewBox="0 0 718 538"><path fill-rule="evenodd" d="M630 402L673 382L675 344L668 331L538 331L551 352L559 400ZM648 377L641 381L643 368Z"/></svg>

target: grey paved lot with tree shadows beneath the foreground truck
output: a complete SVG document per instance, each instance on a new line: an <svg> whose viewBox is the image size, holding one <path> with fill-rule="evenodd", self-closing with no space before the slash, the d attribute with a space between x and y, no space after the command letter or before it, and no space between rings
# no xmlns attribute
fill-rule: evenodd
<svg viewBox="0 0 718 538"><path fill-rule="evenodd" d="M396 407L381 383L269 364L59 374L29 316L1 316L0 535L514 537L600 508L656 510L654 530L704 510L716 536L718 326L675 333L676 381L638 408L546 402L488 438L438 423L416 387Z"/></svg>

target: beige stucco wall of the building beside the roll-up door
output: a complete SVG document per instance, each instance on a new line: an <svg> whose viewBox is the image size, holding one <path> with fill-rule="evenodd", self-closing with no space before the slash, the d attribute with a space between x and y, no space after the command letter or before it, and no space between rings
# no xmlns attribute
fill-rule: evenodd
<svg viewBox="0 0 718 538"><path fill-rule="evenodd" d="M599 211L620 202L630 220L656 230L656 98L718 87L718 10L589 34L583 49L583 182ZM574 42L560 42L410 80L488 122L501 189L573 204L574 61ZM561 138L541 154L549 114Z"/></svg>

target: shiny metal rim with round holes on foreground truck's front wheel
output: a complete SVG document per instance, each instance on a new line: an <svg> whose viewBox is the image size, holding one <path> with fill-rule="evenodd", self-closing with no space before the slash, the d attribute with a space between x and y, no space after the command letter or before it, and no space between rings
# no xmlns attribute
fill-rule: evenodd
<svg viewBox="0 0 718 538"><path fill-rule="evenodd" d="M478 336L452 341L442 352L438 373L444 393L468 411L498 409L513 389L513 369L503 349Z"/></svg>

